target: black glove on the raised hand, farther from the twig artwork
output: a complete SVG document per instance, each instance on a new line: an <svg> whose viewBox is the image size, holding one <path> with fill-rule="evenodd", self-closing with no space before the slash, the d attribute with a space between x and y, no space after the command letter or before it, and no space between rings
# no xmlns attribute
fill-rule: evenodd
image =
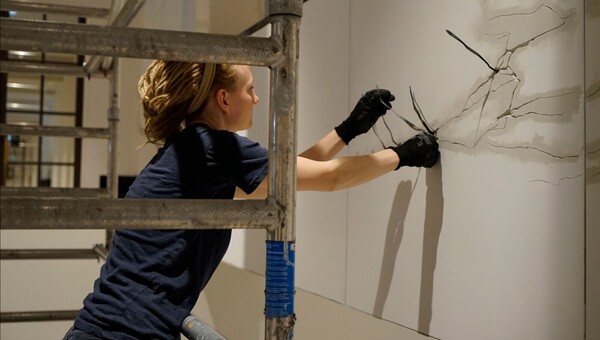
<svg viewBox="0 0 600 340"><path fill-rule="evenodd" d="M335 127L338 136L348 144L350 141L367 131L375 124L379 117L392 108L391 102L394 95L384 89L371 90L360 98L350 116Z"/></svg>

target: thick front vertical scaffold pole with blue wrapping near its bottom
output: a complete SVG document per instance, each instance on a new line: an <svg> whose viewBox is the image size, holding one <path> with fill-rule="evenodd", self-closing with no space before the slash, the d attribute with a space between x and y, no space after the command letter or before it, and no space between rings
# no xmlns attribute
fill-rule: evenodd
<svg viewBox="0 0 600 340"><path fill-rule="evenodd" d="M271 69L269 198L284 218L267 233L265 339L291 339L294 322L296 241L296 144L299 27L302 0L271 0L272 37L283 45L283 61Z"/></svg>

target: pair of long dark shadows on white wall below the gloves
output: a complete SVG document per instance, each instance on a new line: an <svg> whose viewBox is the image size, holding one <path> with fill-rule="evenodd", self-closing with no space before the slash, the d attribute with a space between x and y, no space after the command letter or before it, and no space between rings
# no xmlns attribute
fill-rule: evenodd
<svg viewBox="0 0 600 340"><path fill-rule="evenodd" d="M421 172L419 173L420 176ZM419 177L417 177L418 181ZM426 207L423 231L423 256L421 265L421 292L419 298L418 331L429 333L432 318L433 280L437 262L437 248L444 216L444 195L442 192L441 162L426 170ZM398 184L385 238L383 260L379 274L379 287L375 297L373 315L382 318L390 292L398 251L404 234L404 221L415 185L402 181Z"/></svg>

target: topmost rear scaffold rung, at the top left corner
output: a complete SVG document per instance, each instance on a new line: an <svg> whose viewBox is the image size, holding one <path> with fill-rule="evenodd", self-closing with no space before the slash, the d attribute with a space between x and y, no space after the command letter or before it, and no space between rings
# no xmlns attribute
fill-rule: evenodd
<svg viewBox="0 0 600 340"><path fill-rule="evenodd" d="M106 17L110 13L109 8L69 6L48 3L37 3L29 1L3 0L0 8L4 11L25 11L54 14L69 14L81 17Z"/></svg>

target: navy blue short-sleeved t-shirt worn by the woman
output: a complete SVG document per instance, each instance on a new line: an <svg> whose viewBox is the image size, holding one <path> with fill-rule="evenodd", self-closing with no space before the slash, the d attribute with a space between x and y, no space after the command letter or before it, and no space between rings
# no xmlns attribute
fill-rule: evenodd
<svg viewBox="0 0 600 340"><path fill-rule="evenodd" d="M232 199L267 175L267 151L194 125L161 148L128 198ZM231 230L117 230L75 327L106 339L179 339L181 323L229 246Z"/></svg>

